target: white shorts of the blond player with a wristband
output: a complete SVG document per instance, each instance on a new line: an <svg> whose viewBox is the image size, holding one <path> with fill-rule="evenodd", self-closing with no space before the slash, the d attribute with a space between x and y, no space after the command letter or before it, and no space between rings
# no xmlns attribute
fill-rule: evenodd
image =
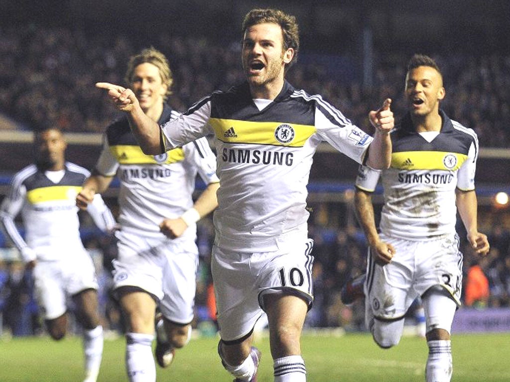
<svg viewBox="0 0 510 382"><path fill-rule="evenodd" d="M198 268L194 240L141 237L117 232L118 256L113 260L113 287L138 287L160 301L160 310L170 321L193 320Z"/></svg>

